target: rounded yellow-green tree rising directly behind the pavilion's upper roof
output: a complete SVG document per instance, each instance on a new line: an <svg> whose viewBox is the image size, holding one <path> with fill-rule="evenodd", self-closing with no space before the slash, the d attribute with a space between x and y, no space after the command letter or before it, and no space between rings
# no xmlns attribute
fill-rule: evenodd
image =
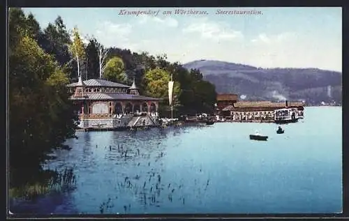
<svg viewBox="0 0 349 221"><path fill-rule="evenodd" d="M127 76L124 73L124 61L117 56L107 61L103 77L112 82L124 84L127 80Z"/></svg>

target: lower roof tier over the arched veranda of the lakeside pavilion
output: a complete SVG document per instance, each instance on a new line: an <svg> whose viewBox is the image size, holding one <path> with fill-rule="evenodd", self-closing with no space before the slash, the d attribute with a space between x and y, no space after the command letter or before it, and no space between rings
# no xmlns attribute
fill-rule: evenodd
<svg viewBox="0 0 349 221"><path fill-rule="evenodd" d="M82 98L71 98L81 100ZM88 93L87 100L162 100L161 98L151 98L146 96L132 95L126 93Z"/></svg>

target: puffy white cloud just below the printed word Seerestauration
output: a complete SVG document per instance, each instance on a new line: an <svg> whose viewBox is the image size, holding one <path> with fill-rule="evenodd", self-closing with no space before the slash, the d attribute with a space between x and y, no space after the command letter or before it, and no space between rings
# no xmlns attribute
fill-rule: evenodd
<svg viewBox="0 0 349 221"><path fill-rule="evenodd" d="M232 40L236 38L243 38L241 31L235 31L225 23L209 22L207 18L196 20L188 24L184 33L200 33L202 38L213 40Z"/></svg>

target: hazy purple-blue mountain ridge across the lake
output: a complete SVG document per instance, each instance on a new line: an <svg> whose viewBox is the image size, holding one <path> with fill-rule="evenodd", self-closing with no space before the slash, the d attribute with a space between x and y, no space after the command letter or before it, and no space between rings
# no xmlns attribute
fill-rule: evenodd
<svg viewBox="0 0 349 221"><path fill-rule="evenodd" d="M256 68L211 60L191 61L184 67L199 69L217 93L237 93L245 100L304 100L308 105L340 105L342 100L342 73L332 70Z"/></svg>

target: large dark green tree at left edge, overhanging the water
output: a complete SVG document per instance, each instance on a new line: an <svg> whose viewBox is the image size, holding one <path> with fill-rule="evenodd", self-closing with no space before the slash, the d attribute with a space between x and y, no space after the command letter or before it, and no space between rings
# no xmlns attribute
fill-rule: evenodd
<svg viewBox="0 0 349 221"><path fill-rule="evenodd" d="M9 20L9 163L10 185L29 180L41 169L47 153L75 135L75 114L68 100L68 77L53 57L18 24Z"/></svg>

